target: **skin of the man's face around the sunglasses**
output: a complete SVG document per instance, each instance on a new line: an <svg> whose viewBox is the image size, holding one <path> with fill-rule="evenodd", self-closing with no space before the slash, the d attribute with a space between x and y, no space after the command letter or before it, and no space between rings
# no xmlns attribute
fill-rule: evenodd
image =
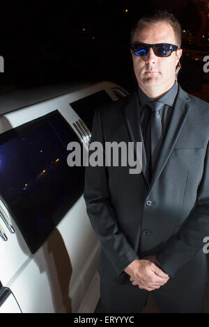
<svg viewBox="0 0 209 327"><path fill-rule="evenodd" d="M177 45L173 28L167 22L157 22L136 29L133 42L149 44L170 43ZM154 90L160 88L167 90L175 81L176 65L182 54L182 49L173 51L169 57L157 57L150 48L148 55L140 57L132 53L134 73L139 87L142 90Z"/></svg>

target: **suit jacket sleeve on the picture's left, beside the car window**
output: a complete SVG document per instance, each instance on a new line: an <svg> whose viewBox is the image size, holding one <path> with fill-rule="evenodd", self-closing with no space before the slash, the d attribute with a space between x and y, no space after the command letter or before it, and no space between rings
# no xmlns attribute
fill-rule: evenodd
<svg viewBox="0 0 209 327"><path fill-rule="evenodd" d="M100 109L95 110L93 118L91 143L95 141L102 143L104 149ZM91 153L92 151L89 150L88 157L91 156ZM139 257L120 230L120 224L109 194L107 167L90 165L86 167L84 200L92 228L119 276L125 267Z"/></svg>

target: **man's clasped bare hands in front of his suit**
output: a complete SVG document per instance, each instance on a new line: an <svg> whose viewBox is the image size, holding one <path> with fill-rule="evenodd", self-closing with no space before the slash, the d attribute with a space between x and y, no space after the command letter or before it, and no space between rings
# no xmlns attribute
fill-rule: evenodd
<svg viewBox="0 0 209 327"><path fill-rule="evenodd" d="M167 273L148 260L134 260L124 271L130 276L132 285L139 285L140 289L147 291L159 289L169 280Z"/></svg>

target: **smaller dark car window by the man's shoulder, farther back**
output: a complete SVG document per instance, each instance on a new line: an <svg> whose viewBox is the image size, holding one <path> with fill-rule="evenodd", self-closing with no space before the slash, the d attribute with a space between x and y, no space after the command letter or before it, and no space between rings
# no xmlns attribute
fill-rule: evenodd
<svg viewBox="0 0 209 327"><path fill-rule="evenodd" d="M88 97L72 102L70 106L72 106L72 109L74 109L80 118L84 120L86 126L91 131L93 114L96 107L108 102L112 102L112 99L109 97L106 91L102 90L94 93L93 95L88 95Z"/></svg>

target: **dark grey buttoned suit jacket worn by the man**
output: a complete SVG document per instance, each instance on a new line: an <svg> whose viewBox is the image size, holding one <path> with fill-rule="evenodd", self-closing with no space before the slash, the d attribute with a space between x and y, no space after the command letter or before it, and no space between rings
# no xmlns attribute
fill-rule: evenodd
<svg viewBox="0 0 209 327"><path fill-rule="evenodd" d="M143 142L137 92L95 111L91 142ZM101 244L99 273L127 282L135 259L157 255L171 277L206 281L209 236L209 105L179 86L150 184L146 153L138 175L129 166L86 167L84 199ZM194 278L191 282L193 282Z"/></svg>

